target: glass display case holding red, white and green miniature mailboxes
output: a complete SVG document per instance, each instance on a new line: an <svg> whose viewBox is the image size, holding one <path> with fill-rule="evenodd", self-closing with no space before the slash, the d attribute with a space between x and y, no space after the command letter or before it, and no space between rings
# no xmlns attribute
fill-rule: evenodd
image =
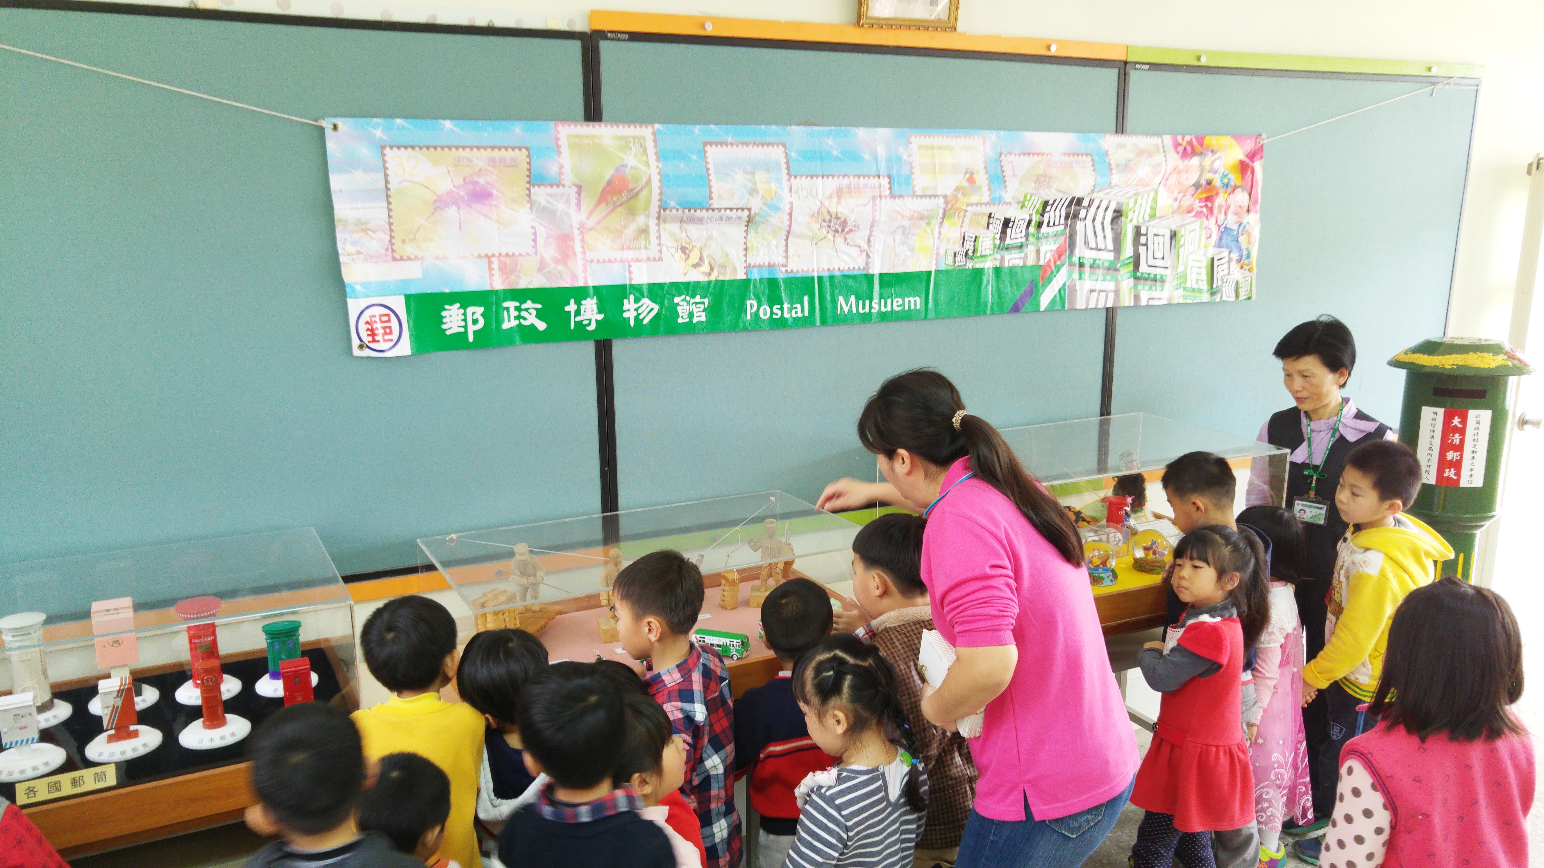
<svg viewBox="0 0 1544 868"><path fill-rule="evenodd" d="M287 703L357 707L352 601L312 528L0 564L0 794L23 806L238 763Z"/></svg>

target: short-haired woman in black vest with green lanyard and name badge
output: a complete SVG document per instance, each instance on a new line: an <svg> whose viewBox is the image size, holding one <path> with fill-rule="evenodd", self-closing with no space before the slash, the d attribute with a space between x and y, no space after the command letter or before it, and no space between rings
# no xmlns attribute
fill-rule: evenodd
<svg viewBox="0 0 1544 868"><path fill-rule="evenodd" d="M1394 439L1394 431L1342 395L1356 368L1356 340L1351 329L1334 317L1319 317L1292 326L1275 344L1282 360L1282 381L1292 395L1292 408L1271 415L1260 426L1261 443L1291 451L1286 471L1286 508L1303 525L1303 573L1297 584L1297 612L1303 622L1308 655L1314 659L1325 647L1325 615L1329 582L1336 571L1336 548L1346 524L1336 510L1336 487L1345 470L1346 454L1363 437ZM1249 468L1246 507L1271 505L1271 468L1255 459ZM1320 755L1329 744L1329 717L1325 700L1315 698L1303 709L1303 735L1308 740L1308 769L1314 789L1314 822L1286 825L1288 832L1309 834L1329 822L1336 782L1320 780Z"/></svg>

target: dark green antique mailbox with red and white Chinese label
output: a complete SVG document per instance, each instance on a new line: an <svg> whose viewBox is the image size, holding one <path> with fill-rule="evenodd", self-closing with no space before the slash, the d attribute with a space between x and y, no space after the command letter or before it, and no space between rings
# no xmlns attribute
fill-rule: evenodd
<svg viewBox="0 0 1544 868"><path fill-rule="evenodd" d="M1471 581L1475 541L1496 517L1516 378L1533 368L1488 338L1428 338L1388 363L1408 371L1399 440L1422 470L1410 513L1453 547L1442 575Z"/></svg>

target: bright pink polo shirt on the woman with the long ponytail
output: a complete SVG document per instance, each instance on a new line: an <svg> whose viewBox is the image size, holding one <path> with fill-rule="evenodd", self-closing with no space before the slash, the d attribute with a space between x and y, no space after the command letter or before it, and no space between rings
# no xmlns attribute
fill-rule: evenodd
<svg viewBox="0 0 1544 868"><path fill-rule="evenodd" d="M1014 646L1008 689L970 741L976 811L991 820L1055 820L1116 797L1136 774L1089 573L960 459L922 536L933 622L954 647ZM957 483L957 485L956 485Z"/></svg>

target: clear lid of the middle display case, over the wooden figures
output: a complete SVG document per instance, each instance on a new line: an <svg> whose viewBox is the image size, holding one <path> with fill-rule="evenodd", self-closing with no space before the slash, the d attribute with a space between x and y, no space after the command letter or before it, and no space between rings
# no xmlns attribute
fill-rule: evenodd
<svg viewBox="0 0 1544 868"><path fill-rule="evenodd" d="M840 559L846 570L857 531L855 524L792 494L760 491L429 536L418 548L474 612L483 612L516 602L488 592L528 582L545 585L542 602L598 593L610 584L602 579L608 562L619 568L662 548L696 561L703 573L789 559Z"/></svg>

